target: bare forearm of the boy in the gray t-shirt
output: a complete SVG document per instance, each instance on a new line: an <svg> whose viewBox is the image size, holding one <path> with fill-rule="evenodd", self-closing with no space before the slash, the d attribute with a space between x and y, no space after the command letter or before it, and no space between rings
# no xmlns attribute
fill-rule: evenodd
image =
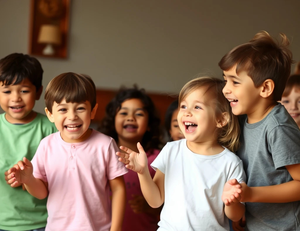
<svg viewBox="0 0 300 231"><path fill-rule="evenodd" d="M241 201L262 203L298 201L300 200L300 181L292 180L280 185L249 187L248 191Z"/></svg>

